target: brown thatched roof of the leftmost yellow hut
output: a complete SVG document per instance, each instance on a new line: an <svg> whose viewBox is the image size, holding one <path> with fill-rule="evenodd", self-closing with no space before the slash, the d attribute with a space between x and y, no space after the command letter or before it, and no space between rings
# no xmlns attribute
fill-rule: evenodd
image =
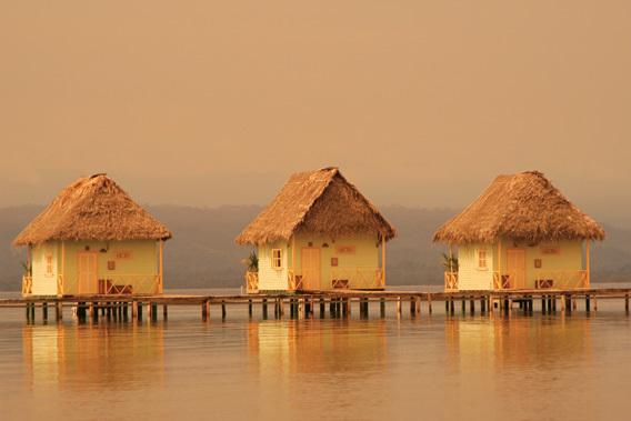
<svg viewBox="0 0 631 421"><path fill-rule="evenodd" d="M59 193L13 241L167 240L171 231L106 174L81 177Z"/></svg>

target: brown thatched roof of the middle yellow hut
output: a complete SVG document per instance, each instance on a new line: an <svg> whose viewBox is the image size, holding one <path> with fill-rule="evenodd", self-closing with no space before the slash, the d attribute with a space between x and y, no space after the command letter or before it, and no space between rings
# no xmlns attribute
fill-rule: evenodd
<svg viewBox="0 0 631 421"><path fill-rule="evenodd" d="M332 239L377 234L385 241L397 237L394 227L337 168L292 174L236 242L260 245L294 233Z"/></svg>

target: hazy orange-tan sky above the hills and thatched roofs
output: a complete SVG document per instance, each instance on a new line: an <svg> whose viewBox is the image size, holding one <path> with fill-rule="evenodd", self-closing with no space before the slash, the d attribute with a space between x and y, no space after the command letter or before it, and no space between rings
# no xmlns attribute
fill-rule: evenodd
<svg viewBox="0 0 631 421"><path fill-rule="evenodd" d="M631 213L631 2L0 0L0 206L107 172L141 203L266 204L340 167L464 207L539 170Z"/></svg>

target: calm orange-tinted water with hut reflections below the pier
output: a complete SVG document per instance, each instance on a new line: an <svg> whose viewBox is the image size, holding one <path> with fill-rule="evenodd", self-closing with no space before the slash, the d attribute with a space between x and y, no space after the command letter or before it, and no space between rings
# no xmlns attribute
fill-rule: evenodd
<svg viewBox="0 0 631 421"><path fill-rule="evenodd" d="M0 309L1 417L627 420L630 318L622 300L598 307L284 320L229 307L209 322L196 307L92 324Z"/></svg>

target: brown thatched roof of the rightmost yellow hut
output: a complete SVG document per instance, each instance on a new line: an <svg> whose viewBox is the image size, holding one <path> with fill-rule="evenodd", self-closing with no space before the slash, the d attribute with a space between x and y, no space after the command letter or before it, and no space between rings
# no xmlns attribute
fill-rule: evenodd
<svg viewBox="0 0 631 421"><path fill-rule="evenodd" d="M604 230L573 206L542 173L500 176L469 208L445 222L432 242L530 245L541 241L604 240Z"/></svg>

